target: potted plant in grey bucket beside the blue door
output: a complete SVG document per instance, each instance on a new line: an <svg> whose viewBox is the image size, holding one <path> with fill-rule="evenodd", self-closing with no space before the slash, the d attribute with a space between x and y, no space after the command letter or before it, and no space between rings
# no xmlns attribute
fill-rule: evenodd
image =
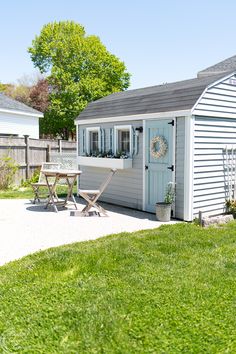
<svg viewBox="0 0 236 354"><path fill-rule="evenodd" d="M171 216L171 206L175 199L175 185L169 182L166 188L164 202L156 203L156 218L158 221L168 222Z"/></svg>

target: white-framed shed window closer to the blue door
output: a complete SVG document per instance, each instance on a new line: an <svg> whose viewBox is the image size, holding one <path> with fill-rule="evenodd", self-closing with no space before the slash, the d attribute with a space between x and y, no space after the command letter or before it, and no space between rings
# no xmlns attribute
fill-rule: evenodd
<svg viewBox="0 0 236 354"><path fill-rule="evenodd" d="M115 153L132 154L131 125L115 126Z"/></svg>

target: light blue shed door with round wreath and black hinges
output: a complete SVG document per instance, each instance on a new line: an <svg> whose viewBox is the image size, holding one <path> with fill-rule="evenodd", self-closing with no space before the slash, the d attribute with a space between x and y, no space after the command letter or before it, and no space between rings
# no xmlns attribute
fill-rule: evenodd
<svg viewBox="0 0 236 354"><path fill-rule="evenodd" d="M173 125L171 120L146 123L145 209L150 212L164 201L167 185L173 181Z"/></svg>

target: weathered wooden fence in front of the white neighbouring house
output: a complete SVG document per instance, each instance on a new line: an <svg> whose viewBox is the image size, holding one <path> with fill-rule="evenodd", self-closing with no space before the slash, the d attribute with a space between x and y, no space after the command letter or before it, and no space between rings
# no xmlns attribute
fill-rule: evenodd
<svg viewBox="0 0 236 354"><path fill-rule="evenodd" d="M50 161L50 154L53 152L76 152L76 142L31 139L28 136L0 137L0 158L10 156L19 166L15 183L30 178L42 162Z"/></svg>

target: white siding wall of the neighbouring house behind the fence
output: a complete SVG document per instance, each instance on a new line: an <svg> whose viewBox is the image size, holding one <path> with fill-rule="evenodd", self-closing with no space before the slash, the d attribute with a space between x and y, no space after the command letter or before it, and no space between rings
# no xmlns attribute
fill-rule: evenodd
<svg viewBox="0 0 236 354"><path fill-rule="evenodd" d="M29 135L39 138L39 118L0 112L0 134Z"/></svg>

